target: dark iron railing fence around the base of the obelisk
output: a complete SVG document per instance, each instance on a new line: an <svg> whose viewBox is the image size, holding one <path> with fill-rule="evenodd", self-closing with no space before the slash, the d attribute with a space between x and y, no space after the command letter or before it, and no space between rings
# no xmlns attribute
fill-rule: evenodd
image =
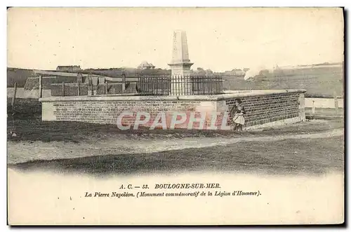
<svg viewBox="0 0 351 232"><path fill-rule="evenodd" d="M218 95L222 76L138 76L140 95Z"/></svg>

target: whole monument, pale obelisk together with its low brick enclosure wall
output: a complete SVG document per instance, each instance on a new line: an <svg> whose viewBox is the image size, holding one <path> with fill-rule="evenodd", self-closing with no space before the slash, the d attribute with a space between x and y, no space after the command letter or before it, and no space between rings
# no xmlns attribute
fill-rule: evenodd
<svg viewBox="0 0 351 232"><path fill-rule="evenodd" d="M152 128L152 125L160 122L161 119L165 121L163 122L165 125L162 125L164 128L230 130L230 126L227 126L232 121L229 112L237 98L241 99L246 109L246 128L305 120L305 90L227 91L225 94L217 94L223 93L222 85L218 85L220 91L209 91L206 93L209 95L196 95L192 90L194 86L189 84L192 83L190 79L192 62L190 62L187 36L184 31L176 31L173 34L173 54L171 63L168 65L171 67L172 81L171 90L169 93L166 91L167 95L141 96L140 93L131 94L133 92L126 95L126 91L123 91L122 95L104 96L96 95L99 88L95 88L96 93L93 95L67 96L65 86L62 85L62 97L40 99L42 120L131 126L135 125L135 121L140 123L140 120L145 119L146 116L142 119L140 115L145 113L150 115L150 118L145 119L142 124L145 127ZM158 90L160 86L154 84L153 78L151 81L150 90L155 88ZM201 83L204 83L206 88L211 87L205 78L201 79ZM76 84L68 87L69 95L74 95L80 90ZM103 90L104 86L101 87ZM106 84L105 92L102 91L102 94L109 93L108 87ZM60 86L58 88L61 89ZM60 95L59 90L53 93ZM187 94L184 95L184 93ZM126 113L129 115L124 115ZM164 115L164 118L159 117L160 114ZM178 120L178 116L182 120L180 118ZM178 124L173 125L175 121L178 121Z"/></svg>

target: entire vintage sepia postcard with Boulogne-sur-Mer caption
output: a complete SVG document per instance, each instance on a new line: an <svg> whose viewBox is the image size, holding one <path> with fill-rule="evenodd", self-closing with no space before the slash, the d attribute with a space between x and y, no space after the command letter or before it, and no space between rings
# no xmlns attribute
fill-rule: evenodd
<svg viewBox="0 0 351 232"><path fill-rule="evenodd" d="M8 8L8 224L343 224L343 8Z"/></svg>

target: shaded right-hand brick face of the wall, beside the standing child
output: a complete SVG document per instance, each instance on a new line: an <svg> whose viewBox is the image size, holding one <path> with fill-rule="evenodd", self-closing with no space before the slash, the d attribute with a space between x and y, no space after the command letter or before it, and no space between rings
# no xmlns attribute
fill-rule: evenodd
<svg viewBox="0 0 351 232"><path fill-rule="evenodd" d="M236 97L225 100L225 104L230 111L234 106L235 99L240 99L246 110L245 126L249 127L300 116L299 97L300 93ZM232 116L230 116L231 120Z"/></svg>

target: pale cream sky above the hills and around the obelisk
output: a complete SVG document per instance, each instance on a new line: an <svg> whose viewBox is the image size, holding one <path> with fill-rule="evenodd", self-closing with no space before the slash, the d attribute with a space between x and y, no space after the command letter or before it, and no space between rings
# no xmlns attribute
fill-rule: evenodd
<svg viewBox="0 0 351 232"><path fill-rule="evenodd" d="M169 69L177 29L192 69L343 61L341 8L10 8L8 67Z"/></svg>

